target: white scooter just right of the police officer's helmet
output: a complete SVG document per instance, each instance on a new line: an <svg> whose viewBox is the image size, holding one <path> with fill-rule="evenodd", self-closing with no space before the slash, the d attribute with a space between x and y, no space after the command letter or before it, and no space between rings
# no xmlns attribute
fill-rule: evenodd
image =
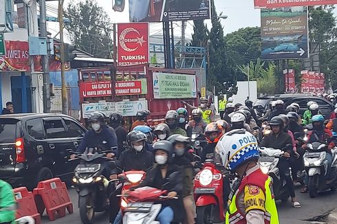
<svg viewBox="0 0 337 224"><path fill-rule="evenodd" d="M285 180L281 178L279 168L279 159L283 155L283 150L274 148L260 148L261 157L259 158L259 166L261 171L272 177L273 191L276 200L287 201L290 194L285 187ZM291 176L291 175L290 175Z"/></svg>

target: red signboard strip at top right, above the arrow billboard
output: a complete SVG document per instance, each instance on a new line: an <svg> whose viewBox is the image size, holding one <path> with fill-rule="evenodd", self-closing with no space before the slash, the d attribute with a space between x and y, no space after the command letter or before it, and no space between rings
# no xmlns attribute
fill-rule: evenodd
<svg viewBox="0 0 337 224"><path fill-rule="evenodd" d="M307 5L334 5L337 0L254 0L255 8L279 8Z"/></svg>

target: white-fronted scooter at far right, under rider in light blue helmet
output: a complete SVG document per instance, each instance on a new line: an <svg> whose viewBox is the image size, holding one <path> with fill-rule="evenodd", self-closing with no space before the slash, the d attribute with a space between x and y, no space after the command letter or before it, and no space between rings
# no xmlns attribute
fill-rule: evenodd
<svg viewBox="0 0 337 224"><path fill-rule="evenodd" d="M313 142L312 144L307 144L307 152L303 156L305 171L308 175L307 188L309 196L312 198L317 196L318 191L336 190L337 149L331 149L332 163L329 177L327 177L326 150L327 144Z"/></svg>

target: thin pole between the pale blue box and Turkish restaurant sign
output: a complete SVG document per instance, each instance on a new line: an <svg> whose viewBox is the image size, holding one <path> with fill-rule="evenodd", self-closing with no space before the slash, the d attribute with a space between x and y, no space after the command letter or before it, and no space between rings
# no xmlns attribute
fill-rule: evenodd
<svg viewBox="0 0 337 224"><path fill-rule="evenodd" d="M65 83L65 43L63 41L63 3L64 0L58 1L58 23L60 25L60 42L61 42L61 97L62 97L62 113L68 114L67 103L67 86Z"/></svg>

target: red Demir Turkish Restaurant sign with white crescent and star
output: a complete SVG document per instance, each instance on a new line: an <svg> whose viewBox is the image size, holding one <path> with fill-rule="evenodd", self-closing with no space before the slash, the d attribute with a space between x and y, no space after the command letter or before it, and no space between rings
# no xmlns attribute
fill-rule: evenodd
<svg viewBox="0 0 337 224"><path fill-rule="evenodd" d="M118 66L149 63L149 23L118 23Z"/></svg>

